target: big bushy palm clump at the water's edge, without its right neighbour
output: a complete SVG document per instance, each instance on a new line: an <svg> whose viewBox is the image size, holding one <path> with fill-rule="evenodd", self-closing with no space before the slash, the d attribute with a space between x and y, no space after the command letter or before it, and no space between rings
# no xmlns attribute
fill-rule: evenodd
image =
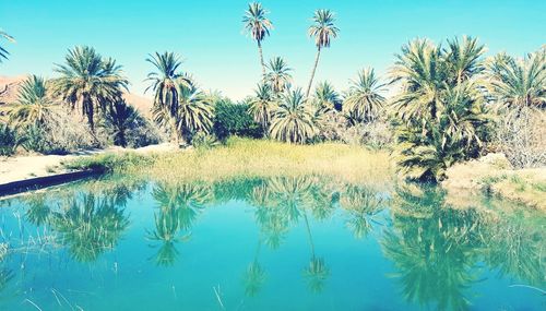
<svg viewBox="0 0 546 311"><path fill-rule="evenodd" d="M484 47L476 39L441 49L417 39L402 48L392 71L402 93L393 100L400 171L442 180L451 165L479 155L490 120L477 73Z"/></svg>

